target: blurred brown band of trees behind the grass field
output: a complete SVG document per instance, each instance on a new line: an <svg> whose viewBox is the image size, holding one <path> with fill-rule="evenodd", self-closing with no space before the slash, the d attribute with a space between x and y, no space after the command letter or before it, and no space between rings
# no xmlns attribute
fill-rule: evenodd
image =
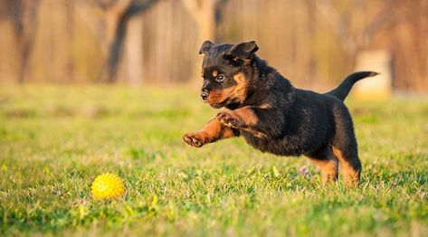
<svg viewBox="0 0 428 237"><path fill-rule="evenodd" d="M189 83L206 39L255 40L300 87L428 91L427 0L0 0L0 81Z"/></svg>

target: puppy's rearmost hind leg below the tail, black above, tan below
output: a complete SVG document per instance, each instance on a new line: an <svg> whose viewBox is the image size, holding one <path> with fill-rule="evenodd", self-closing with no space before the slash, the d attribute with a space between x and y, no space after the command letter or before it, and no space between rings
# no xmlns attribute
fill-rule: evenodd
<svg viewBox="0 0 428 237"><path fill-rule="evenodd" d="M352 119L345 105L338 106L334 114L336 134L331 143L331 150L338 158L345 185L357 185L361 175L361 162L358 158Z"/></svg>

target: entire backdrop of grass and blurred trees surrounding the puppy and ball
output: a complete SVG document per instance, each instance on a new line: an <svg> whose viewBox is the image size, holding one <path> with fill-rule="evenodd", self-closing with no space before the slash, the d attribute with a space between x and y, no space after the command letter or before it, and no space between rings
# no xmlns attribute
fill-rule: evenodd
<svg viewBox="0 0 428 237"><path fill-rule="evenodd" d="M361 188L243 138L185 145L217 114L207 39L319 92L381 72L346 101ZM428 0L0 0L0 237L428 236L427 170ZM106 172L123 199L92 199Z"/></svg>

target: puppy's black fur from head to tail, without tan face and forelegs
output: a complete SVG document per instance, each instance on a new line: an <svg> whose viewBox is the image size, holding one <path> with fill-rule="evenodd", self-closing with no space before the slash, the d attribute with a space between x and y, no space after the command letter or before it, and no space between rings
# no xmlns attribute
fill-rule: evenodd
<svg viewBox="0 0 428 237"><path fill-rule="evenodd" d="M305 155L319 160L331 160L331 151L336 149L337 157L333 159L350 164L359 179L357 139L343 100L355 82L377 73L355 72L335 90L320 94L294 88L289 80L255 55L257 50L255 42L215 44L207 41L203 44L200 50L205 54L203 91L236 86L233 76L239 73L244 75L246 83L244 99L227 98L210 104L214 108L252 109L257 123L251 130L232 127L234 133L243 136L252 147L280 156ZM217 73L226 79L215 81Z"/></svg>

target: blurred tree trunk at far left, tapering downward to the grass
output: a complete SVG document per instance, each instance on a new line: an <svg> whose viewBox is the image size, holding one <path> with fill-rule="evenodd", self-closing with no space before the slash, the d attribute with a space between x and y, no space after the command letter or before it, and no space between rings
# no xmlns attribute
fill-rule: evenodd
<svg viewBox="0 0 428 237"><path fill-rule="evenodd" d="M37 31L40 0L5 0L8 19L14 29L19 66L17 81L24 82Z"/></svg>

